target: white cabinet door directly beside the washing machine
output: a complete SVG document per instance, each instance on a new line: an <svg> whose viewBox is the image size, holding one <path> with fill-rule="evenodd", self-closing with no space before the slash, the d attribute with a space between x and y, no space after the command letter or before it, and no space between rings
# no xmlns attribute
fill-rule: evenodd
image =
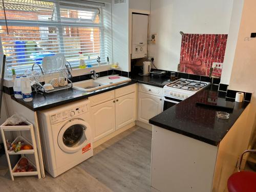
<svg viewBox="0 0 256 192"><path fill-rule="evenodd" d="M115 100L110 100L91 108L93 138L97 141L115 131Z"/></svg>

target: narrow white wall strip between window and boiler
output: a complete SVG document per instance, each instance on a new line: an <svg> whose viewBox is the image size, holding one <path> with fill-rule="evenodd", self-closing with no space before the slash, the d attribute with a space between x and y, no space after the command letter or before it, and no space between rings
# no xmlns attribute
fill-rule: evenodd
<svg viewBox="0 0 256 192"><path fill-rule="evenodd" d="M114 4L112 1L113 62L119 70L129 71L129 2Z"/></svg>

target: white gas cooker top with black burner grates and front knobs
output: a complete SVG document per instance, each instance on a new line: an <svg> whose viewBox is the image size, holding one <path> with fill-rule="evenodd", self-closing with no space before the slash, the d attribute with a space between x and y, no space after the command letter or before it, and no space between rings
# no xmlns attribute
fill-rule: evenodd
<svg viewBox="0 0 256 192"><path fill-rule="evenodd" d="M166 84L163 88L163 95L184 100L206 88L209 84L209 82L181 78Z"/></svg>

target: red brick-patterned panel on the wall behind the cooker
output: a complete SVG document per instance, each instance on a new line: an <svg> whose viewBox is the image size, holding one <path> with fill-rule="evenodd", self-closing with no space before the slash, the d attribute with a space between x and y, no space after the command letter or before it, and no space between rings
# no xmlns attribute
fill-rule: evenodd
<svg viewBox="0 0 256 192"><path fill-rule="evenodd" d="M212 62L223 63L227 34L184 34L181 41L180 72L209 76ZM215 69L214 76L221 76Z"/></svg>

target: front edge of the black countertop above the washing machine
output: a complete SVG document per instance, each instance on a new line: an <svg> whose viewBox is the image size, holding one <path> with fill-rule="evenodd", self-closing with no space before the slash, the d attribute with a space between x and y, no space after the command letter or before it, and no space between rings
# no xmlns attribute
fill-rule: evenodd
<svg viewBox="0 0 256 192"><path fill-rule="evenodd" d="M59 105L65 104L65 103L69 103L69 102L73 102L73 101L78 101L78 100L81 100L81 99L84 99L84 98L88 98L88 97L91 97L91 96L94 96L94 95L98 95L98 94L101 94L101 93L112 91L112 90L115 90L115 89L118 89L118 88L130 86L131 84L135 84L135 83L137 83L137 81L132 79L129 82L124 82L124 83L121 83L121 84L117 84L116 86L113 86L113 87L104 88L102 90L99 89L96 92L92 92L92 93L84 92L84 93L88 93L88 94L81 95L81 96L78 96L78 97L75 97L75 98L71 98L71 99L67 99L67 100L63 100L63 101L59 101L59 102L56 102L56 103L47 104L47 105L44 105L44 106L39 106L37 108L33 108L31 105L27 104L27 102L23 101L23 99L16 99L14 97L14 95L11 95L11 98L14 101L16 101L16 102L26 106L26 108L29 108L32 111L42 111L42 110L47 110L47 109L50 109L50 108L53 108L55 106L59 106ZM31 102L33 102L33 101L31 101Z"/></svg>

